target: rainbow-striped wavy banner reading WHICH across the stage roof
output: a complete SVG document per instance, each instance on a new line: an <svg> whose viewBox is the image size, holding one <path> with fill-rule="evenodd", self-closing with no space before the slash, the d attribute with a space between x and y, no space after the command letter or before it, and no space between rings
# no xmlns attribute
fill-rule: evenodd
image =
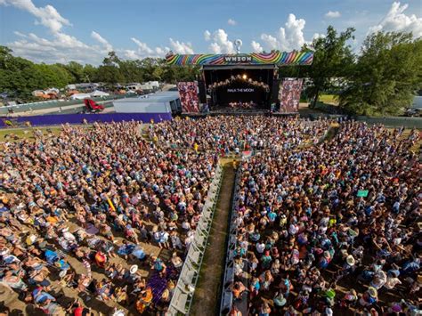
<svg viewBox="0 0 422 316"><path fill-rule="evenodd" d="M311 65L313 52L239 53L239 54L169 54L170 65Z"/></svg>

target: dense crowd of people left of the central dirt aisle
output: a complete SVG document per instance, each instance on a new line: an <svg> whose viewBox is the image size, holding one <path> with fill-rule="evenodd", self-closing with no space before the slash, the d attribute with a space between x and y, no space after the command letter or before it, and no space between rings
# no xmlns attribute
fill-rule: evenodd
<svg viewBox="0 0 422 316"><path fill-rule="evenodd" d="M166 309L217 157L161 150L141 126L0 143L0 280L21 301L50 315Z"/></svg>

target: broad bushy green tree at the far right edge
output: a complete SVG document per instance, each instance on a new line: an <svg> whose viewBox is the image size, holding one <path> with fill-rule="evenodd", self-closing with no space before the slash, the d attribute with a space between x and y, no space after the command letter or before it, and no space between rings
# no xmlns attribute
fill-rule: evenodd
<svg viewBox="0 0 422 316"><path fill-rule="evenodd" d="M396 115L422 87L422 39L411 33L367 36L340 106L359 115Z"/></svg>

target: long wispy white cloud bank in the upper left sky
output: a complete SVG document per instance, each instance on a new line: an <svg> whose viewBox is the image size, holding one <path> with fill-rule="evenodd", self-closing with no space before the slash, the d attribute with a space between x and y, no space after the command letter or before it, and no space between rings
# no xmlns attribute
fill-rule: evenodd
<svg viewBox="0 0 422 316"><path fill-rule="evenodd" d="M64 19L52 5L37 7L32 0L0 0L0 5L2 4L12 5L34 15L37 24L50 30L50 38L40 37L33 33L14 32L15 36L18 36L17 40L7 45L15 55L31 61L46 63L77 61L98 65L104 56L112 50L129 59L164 57L170 51L170 48L166 46L151 48L134 37L131 40L136 44L136 49L114 49L107 39L95 31L91 32L94 43L85 44L77 37L62 31L63 26L70 26L71 23ZM193 53L191 43L181 43L170 38L170 44L175 53Z"/></svg>

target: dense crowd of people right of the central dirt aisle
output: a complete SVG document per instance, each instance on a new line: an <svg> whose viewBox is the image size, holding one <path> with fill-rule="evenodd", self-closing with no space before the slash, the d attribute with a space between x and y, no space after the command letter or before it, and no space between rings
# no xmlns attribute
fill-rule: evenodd
<svg viewBox="0 0 422 316"><path fill-rule="evenodd" d="M232 315L422 312L419 136L402 132L349 121L242 163Z"/></svg>

